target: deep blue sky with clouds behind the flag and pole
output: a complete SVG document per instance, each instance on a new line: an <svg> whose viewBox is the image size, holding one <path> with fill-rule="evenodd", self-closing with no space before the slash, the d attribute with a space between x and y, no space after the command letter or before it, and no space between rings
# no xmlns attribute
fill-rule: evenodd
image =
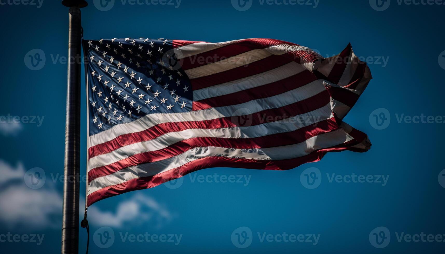
<svg viewBox="0 0 445 254"><path fill-rule="evenodd" d="M314 48L323 56L350 42L374 77L345 118L368 134L373 146L367 153L329 153L283 172L205 169L173 184L108 198L89 209L91 253L443 251L445 5L378 1L115 0L110 8L89 0L82 9L85 39L262 37ZM25 3L0 0L0 246L5 253L57 253L68 9L59 1ZM239 11L243 8L248 9ZM29 56L36 53L45 60L33 67ZM82 87L83 80L82 73ZM82 113L85 165L85 103ZM304 177L300 181L304 170L320 172L318 187L309 189ZM28 187L36 187L29 174L45 180L38 189ZM81 199L84 195L82 182ZM86 234L80 232L82 253ZM112 234L113 241L106 242ZM417 235L418 242L411 240Z"/></svg>

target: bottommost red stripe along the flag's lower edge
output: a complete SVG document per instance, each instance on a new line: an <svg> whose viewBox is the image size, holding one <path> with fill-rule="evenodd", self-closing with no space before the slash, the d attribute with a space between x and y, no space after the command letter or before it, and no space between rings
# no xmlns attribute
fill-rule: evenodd
<svg viewBox="0 0 445 254"><path fill-rule="evenodd" d="M186 174L192 173L199 169L214 167L238 167L245 169L287 170L293 169L307 162L320 161L320 159L328 152L340 152L343 150L348 150L350 146L356 144L358 144L358 142L352 140L344 144L334 146L332 148L314 151L303 157L280 161L251 160L230 157L206 157L190 161L185 165L157 174L155 176L135 178L121 184L108 186L103 189L97 190L88 195L88 206L91 206L93 203L99 200L123 194L129 191L153 188L162 183L185 176Z"/></svg>

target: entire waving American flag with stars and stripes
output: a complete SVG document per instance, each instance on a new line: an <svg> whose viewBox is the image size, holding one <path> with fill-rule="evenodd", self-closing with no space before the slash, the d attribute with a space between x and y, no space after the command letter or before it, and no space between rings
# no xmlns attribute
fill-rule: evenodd
<svg viewBox="0 0 445 254"><path fill-rule="evenodd" d="M372 78L350 44L329 58L272 39L83 46L88 206L199 169L286 170L370 149L342 121Z"/></svg>

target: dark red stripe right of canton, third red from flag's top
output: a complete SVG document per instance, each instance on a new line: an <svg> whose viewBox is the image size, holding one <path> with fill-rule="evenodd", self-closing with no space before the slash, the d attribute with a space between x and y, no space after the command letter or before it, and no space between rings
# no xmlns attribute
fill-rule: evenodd
<svg viewBox="0 0 445 254"><path fill-rule="evenodd" d="M268 56L264 59L258 60L246 66L240 66L235 69L227 70L221 73L198 77L190 80L193 91L210 87L213 85L223 84L226 82L239 80L245 77L250 77L259 73L267 72L269 70L278 68L280 66L290 63L292 59L286 56Z"/></svg>

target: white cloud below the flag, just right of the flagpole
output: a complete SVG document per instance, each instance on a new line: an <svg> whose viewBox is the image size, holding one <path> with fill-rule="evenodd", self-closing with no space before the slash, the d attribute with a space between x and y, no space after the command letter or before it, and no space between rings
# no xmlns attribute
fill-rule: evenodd
<svg viewBox="0 0 445 254"><path fill-rule="evenodd" d="M145 222L153 222L156 223L156 227L160 228L174 217L156 200L140 193L120 202L114 213L100 210L97 204L88 208L88 219L100 226L123 227L131 223L140 225Z"/></svg>

